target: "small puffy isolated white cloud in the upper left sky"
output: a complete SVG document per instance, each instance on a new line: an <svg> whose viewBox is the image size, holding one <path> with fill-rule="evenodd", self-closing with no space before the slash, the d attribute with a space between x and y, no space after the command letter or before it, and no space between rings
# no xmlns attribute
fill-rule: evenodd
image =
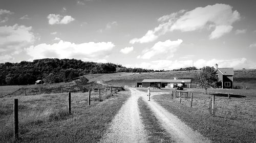
<svg viewBox="0 0 256 143"><path fill-rule="evenodd" d="M59 14L49 14L47 16L47 18L49 19L49 24L53 25L53 24L68 24L72 21L74 21L75 19L69 15L66 16L61 16Z"/></svg>

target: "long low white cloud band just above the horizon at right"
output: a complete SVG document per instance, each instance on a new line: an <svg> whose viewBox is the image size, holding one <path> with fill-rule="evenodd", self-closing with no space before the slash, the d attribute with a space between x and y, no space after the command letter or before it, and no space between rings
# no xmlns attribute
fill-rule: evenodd
<svg viewBox="0 0 256 143"><path fill-rule="evenodd" d="M218 64L220 68L234 68L234 69L242 69L242 68L250 68L253 69L256 67L256 63L253 63L251 61L248 61L246 58L241 59L231 59L231 60L203 60L199 59L197 61L194 61L194 66L197 68L202 68L204 66L214 66L215 64ZM154 69L154 70L173 70L173 69L179 69L179 68L185 68L185 67L191 67L193 65L192 60L183 60L183 61L172 61L172 60L157 60L157 61L151 61L151 62L143 62L141 64L135 64L135 65L124 65L125 67L140 67L145 69Z"/></svg>

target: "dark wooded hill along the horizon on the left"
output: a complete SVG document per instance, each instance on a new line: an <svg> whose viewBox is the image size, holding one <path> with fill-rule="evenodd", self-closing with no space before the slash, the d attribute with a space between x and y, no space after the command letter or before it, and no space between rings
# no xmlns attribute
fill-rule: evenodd
<svg viewBox="0 0 256 143"><path fill-rule="evenodd" d="M76 59L40 59L33 62L0 63L0 85L67 82L85 74L113 72L150 72L141 68L126 68L113 63L83 62Z"/></svg>

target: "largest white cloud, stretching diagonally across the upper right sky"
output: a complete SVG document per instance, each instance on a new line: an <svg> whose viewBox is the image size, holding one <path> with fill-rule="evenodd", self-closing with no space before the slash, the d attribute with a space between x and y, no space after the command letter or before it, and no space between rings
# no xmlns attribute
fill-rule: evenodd
<svg viewBox="0 0 256 143"><path fill-rule="evenodd" d="M158 21L161 22L161 24L155 27L154 30L147 31L143 37L130 40L130 43L152 42L167 32L175 30L191 32L206 27L210 27L210 30L214 28L209 39L217 39L224 34L229 33L233 28L232 23L238 20L240 20L240 13L236 10L232 11L232 7L225 4L198 7L187 12L181 10L158 18Z"/></svg>

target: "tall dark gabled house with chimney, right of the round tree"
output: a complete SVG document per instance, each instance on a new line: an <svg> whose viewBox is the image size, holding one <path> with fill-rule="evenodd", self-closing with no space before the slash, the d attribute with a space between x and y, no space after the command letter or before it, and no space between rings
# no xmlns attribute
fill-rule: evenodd
<svg viewBox="0 0 256 143"><path fill-rule="evenodd" d="M219 81L221 82L220 87L222 89L233 89L233 68L218 68L218 64L215 64Z"/></svg>

